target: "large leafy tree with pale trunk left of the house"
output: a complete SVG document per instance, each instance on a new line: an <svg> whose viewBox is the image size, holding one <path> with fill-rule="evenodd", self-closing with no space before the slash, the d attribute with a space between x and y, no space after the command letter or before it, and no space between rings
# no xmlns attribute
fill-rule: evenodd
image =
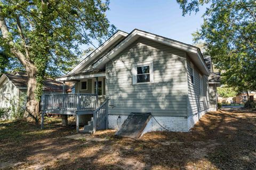
<svg viewBox="0 0 256 170"><path fill-rule="evenodd" d="M115 30L106 18L108 5L108 0L0 0L0 45L27 72L28 117L37 121L45 74L69 71L82 53L79 46L91 39L101 43Z"/></svg>

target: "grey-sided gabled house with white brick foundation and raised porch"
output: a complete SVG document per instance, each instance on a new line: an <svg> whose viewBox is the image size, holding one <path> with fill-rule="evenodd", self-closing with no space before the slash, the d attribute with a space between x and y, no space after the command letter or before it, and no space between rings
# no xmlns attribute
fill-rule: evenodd
<svg viewBox="0 0 256 170"><path fill-rule="evenodd" d="M68 102L46 95L44 113L76 115L77 131L80 119L91 115L84 129L94 132L118 129L131 113L154 116L148 131L188 132L217 109L220 86L211 57L199 48L138 29L117 31L57 80L75 82L76 94Z"/></svg>

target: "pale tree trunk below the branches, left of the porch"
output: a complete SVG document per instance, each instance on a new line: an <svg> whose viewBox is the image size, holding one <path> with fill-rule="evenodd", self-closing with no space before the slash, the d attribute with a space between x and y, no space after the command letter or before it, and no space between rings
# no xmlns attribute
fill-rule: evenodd
<svg viewBox="0 0 256 170"><path fill-rule="evenodd" d="M27 69L28 75L28 90L27 90L27 104L26 104L26 114L28 120L34 120L38 122L38 111L37 105L38 102L35 96L35 89L36 89L36 70L35 69Z"/></svg>

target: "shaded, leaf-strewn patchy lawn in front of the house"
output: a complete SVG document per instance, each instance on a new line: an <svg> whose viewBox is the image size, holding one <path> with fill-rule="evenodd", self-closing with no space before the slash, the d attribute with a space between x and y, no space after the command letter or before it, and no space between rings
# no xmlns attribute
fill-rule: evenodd
<svg viewBox="0 0 256 170"><path fill-rule="evenodd" d="M64 138L75 126L57 118L45 129L26 122L0 122L0 169L256 169L256 113L218 111L188 133L151 132L119 139L114 130Z"/></svg>

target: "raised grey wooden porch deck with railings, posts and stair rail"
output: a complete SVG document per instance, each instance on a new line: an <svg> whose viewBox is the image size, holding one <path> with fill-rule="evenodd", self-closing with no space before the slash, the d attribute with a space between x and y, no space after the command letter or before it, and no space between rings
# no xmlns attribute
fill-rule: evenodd
<svg viewBox="0 0 256 170"><path fill-rule="evenodd" d="M79 117L93 115L93 133L97 130L107 129L108 99L100 105L99 97L95 94L49 94L44 95L42 106L41 128L44 128L45 114L60 114L76 116L76 131L79 132Z"/></svg>

